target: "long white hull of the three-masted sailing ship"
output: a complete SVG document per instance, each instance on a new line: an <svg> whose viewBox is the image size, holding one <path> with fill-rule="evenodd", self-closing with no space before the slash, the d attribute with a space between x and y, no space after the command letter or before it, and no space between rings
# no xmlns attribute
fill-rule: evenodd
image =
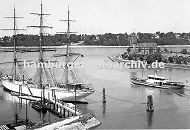
<svg viewBox="0 0 190 130"><path fill-rule="evenodd" d="M30 95L33 97L42 97L42 89L30 86L30 85L22 85L21 82L18 81L9 81L9 80L2 80L2 85L4 90L9 92L16 92L21 93L23 95ZM21 86L21 87L20 87ZM20 89L20 91L19 91ZM76 91L76 99L80 100L92 94L93 92L84 92L84 91ZM65 101L74 101L75 100L75 93L74 91L68 91L62 88L54 88L54 89L44 89L44 95L46 99L56 99L58 100L65 100Z"/></svg>

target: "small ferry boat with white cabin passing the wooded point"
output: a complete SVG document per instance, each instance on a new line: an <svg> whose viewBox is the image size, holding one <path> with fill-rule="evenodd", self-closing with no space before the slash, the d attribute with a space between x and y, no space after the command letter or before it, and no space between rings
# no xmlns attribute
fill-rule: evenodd
<svg viewBox="0 0 190 130"><path fill-rule="evenodd" d="M143 85L147 87L163 88L163 89L182 89L185 87L183 82L169 81L166 77L148 75L147 79L131 78L132 85Z"/></svg>

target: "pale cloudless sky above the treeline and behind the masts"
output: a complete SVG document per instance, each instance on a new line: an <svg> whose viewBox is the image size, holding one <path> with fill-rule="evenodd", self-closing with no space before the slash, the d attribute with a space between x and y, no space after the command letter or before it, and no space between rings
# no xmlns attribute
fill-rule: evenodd
<svg viewBox="0 0 190 130"><path fill-rule="evenodd" d="M16 14L19 28L39 25L39 18L31 12L39 12L40 0L1 0L0 28L11 28L12 21L5 19ZM67 18L68 5L71 18L76 20L71 31L78 34L131 33L135 32L190 32L190 0L43 0L46 25L53 27L47 33L66 31L66 23L59 19ZM33 34L36 29L25 32ZM0 36L12 32L0 31Z"/></svg>

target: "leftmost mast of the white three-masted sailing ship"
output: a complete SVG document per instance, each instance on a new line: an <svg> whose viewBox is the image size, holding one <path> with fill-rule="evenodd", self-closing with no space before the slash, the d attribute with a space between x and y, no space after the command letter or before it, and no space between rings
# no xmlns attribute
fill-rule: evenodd
<svg viewBox="0 0 190 130"><path fill-rule="evenodd" d="M12 29L1 29L1 30L13 30L13 44L14 44L14 64L13 64L13 67L14 67L14 74L13 74L13 80L16 80L16 67L17 67L17 55L16 55L16 51L17 51L17 48L16 48L16 35L17 35L17 31L18 30L25 30L25 29L17 29L16 28L16 19L19 19L19 18L23 18L23 17L17 17L16 16L16 9L15 9L15 6L14 6L14 10L13 10L13 17L5 17L5 18L11 18L13 19L13 28Z"/></svg>

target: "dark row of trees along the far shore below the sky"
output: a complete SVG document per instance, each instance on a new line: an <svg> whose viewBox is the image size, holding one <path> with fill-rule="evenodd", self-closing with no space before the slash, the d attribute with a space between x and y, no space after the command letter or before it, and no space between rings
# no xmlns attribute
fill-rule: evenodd
<svg viewBox="0 0 190 130"><path fill-rule="evenodd" d="M158 43L158 45L189 45L190 33L137 33L137 42ZM130 44L130 34L127 33L105 33L99 35L71 35L71 41L78 43L84 41L83 45L103 45L103 46L127 46ZM19 46L37 46L39 44L38 35L17 35ZM55 34L44 36L45 46L60 46L67 41L65 34ZM13 46L12 37L4 36L0 38L0 46Z"/></svg>

